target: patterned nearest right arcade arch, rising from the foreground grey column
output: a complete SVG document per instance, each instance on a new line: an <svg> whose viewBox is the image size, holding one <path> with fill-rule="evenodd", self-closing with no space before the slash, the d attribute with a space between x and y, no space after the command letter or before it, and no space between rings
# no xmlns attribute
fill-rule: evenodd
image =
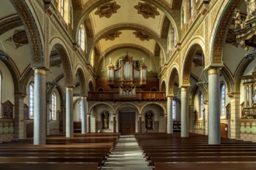
<svg viewBox="0 0 256 170"><path fill-rule="evenodd" d="M216 15L215 22L213 23L213 32L210 33L209 39L211 56L209 56L209 65L218 65L223 62L223 49L226 41L227 32L230 28L230 24L233 21L234 9L237 7L239 0L230 1L218 1L216 3L222 3L213 15ZM221 14L221 15L220 15Z"/></svg>

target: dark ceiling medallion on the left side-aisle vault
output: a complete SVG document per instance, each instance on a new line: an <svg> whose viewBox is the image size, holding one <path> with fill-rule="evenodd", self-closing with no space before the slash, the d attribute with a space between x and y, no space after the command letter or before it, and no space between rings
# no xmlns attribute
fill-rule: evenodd
<svg viewBox="0 0 256 170"><path fill-rule="evenodd" d="M13 32L13 35L6 39L5 42L9 43L13 48L18 49L19 47L28 44L29 40L24 29L16 29Z"/></svg>

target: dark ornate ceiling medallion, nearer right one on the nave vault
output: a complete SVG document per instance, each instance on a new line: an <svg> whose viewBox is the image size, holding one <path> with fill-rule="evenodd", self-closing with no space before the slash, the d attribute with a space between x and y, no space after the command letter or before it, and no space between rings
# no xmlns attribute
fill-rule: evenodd
<svg viewBox="0 0 256 170"><path fill-rule="evenodd" d="M154 5L150 5L147 2L139 2L139 5L135 5L134 8L136 8L138 10L138 14L143 15L145 19L148 19L150 17L154 19L156 15L160 15L160 13L157 12L157 7L155 7Z"/></svg>

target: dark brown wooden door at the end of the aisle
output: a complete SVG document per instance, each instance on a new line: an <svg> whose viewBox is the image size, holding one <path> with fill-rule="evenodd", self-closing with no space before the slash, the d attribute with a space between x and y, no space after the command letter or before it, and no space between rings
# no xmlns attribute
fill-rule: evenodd
<svg viewBox="0 0 256 170"><path fill-rule="evenodd" d="M135 133L134 112L119 112L119 132L121 135L133 135Z"/></svg>

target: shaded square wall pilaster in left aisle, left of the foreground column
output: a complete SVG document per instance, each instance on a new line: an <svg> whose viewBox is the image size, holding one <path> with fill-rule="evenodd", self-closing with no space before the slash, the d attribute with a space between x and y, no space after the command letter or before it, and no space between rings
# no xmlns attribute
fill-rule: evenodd
<svg viewBox="0 0 256 170"><path fill-rule="evenodd" d="M24 115L24 98L26 93L14 93L14 140L26 138L26 124L25 120L29 117Z"/></svg>

